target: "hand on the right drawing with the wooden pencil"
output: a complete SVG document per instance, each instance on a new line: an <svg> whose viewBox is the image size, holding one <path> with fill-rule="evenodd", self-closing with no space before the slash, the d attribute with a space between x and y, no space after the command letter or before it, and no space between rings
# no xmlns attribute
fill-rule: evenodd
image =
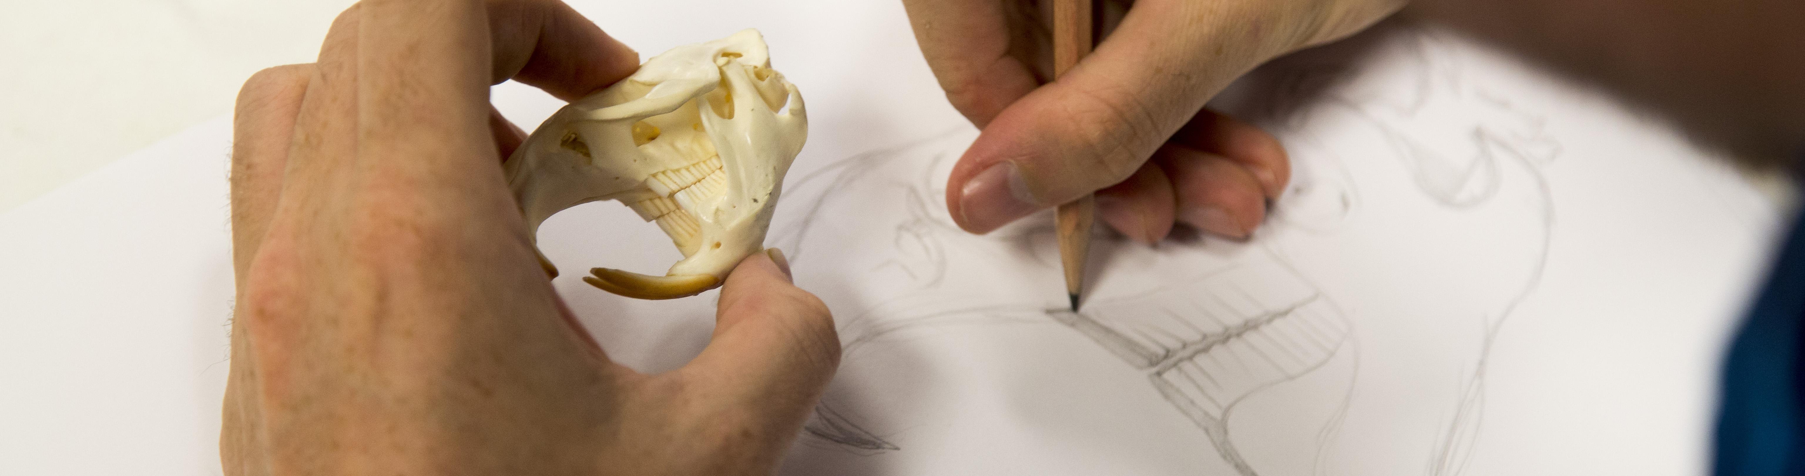
<svg viewBox="0 0 1805 476"><path fill-rule="evenodd" d="M1245 238L1291 177L1273 135L1202 110L1280 54L1354 34L1406 0L1097 0L1114 29L1058 81L1049 0L902 0L946 97L984 130L946 206L971 233L1097 193L1139 242L1173 225ZM1152 160L1150 160L1152 157Z"/></svg>

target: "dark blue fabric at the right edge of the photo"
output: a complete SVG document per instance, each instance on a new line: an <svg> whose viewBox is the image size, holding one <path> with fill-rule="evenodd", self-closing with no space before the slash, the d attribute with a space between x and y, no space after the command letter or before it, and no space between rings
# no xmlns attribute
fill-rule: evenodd
<svg viewBox="0 0 1805 476"><path fill-rule="evenodd" d="M1717 476L1805 474L1800 456L1805 375L1805 229L1792 220L1767 285L1749 308L1724 362L1717 420Z"/></svg>

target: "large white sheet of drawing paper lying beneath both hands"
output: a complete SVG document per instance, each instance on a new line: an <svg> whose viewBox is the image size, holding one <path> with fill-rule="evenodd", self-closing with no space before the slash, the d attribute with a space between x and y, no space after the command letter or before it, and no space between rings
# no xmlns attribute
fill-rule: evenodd
<svg viewBox="0 0 1805 476"><path fill-rule="evenodd" d="M769 243L847 353L782 472L1704 471L1720 346L1778 211L1673 132L1388 25L1218 101L1294 162L1253 240L1099 234L1074 316L1045 215L949 224L944 177L977 132L893 2L843 4L863 2L702 23L579 5L643 54L760 27L809 97ZM558 106L518 85L495 101L529 128ZM218 472L227 146L213 121L0 215L0 474ZM679 258L619 204L554 216L540 245L565 269ZM554 285L643 371L706 344L713 292Z"/></svg>

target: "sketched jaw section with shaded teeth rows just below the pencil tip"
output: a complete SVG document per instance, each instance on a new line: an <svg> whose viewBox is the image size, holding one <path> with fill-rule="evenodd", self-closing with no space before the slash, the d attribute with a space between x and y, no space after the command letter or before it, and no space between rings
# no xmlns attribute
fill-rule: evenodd
<svg viewBox="0 0 1805 476"><path fill-rule="evenodd" d="M1226 269L1180 285L1189 292L1155 288L1047 314L1148 371L1235 471L1256 474L1229 440L1227 413L1265 386L1323 366L1347 341L1347 321L1282 267Z"/></svg>

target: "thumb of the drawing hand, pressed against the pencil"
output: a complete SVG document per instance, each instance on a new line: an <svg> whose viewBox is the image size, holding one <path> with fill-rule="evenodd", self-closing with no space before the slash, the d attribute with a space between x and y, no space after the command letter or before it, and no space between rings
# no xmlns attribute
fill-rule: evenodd
<svg viewBox="0 0 1805 476"><path fill-rule="evenodd" d="M1197 4L1137 2L1096 52L986 124L948 178L955 222L989 233L1126 180L1211 96L1296 43L1244 29L1273 2Z"/></svg>

